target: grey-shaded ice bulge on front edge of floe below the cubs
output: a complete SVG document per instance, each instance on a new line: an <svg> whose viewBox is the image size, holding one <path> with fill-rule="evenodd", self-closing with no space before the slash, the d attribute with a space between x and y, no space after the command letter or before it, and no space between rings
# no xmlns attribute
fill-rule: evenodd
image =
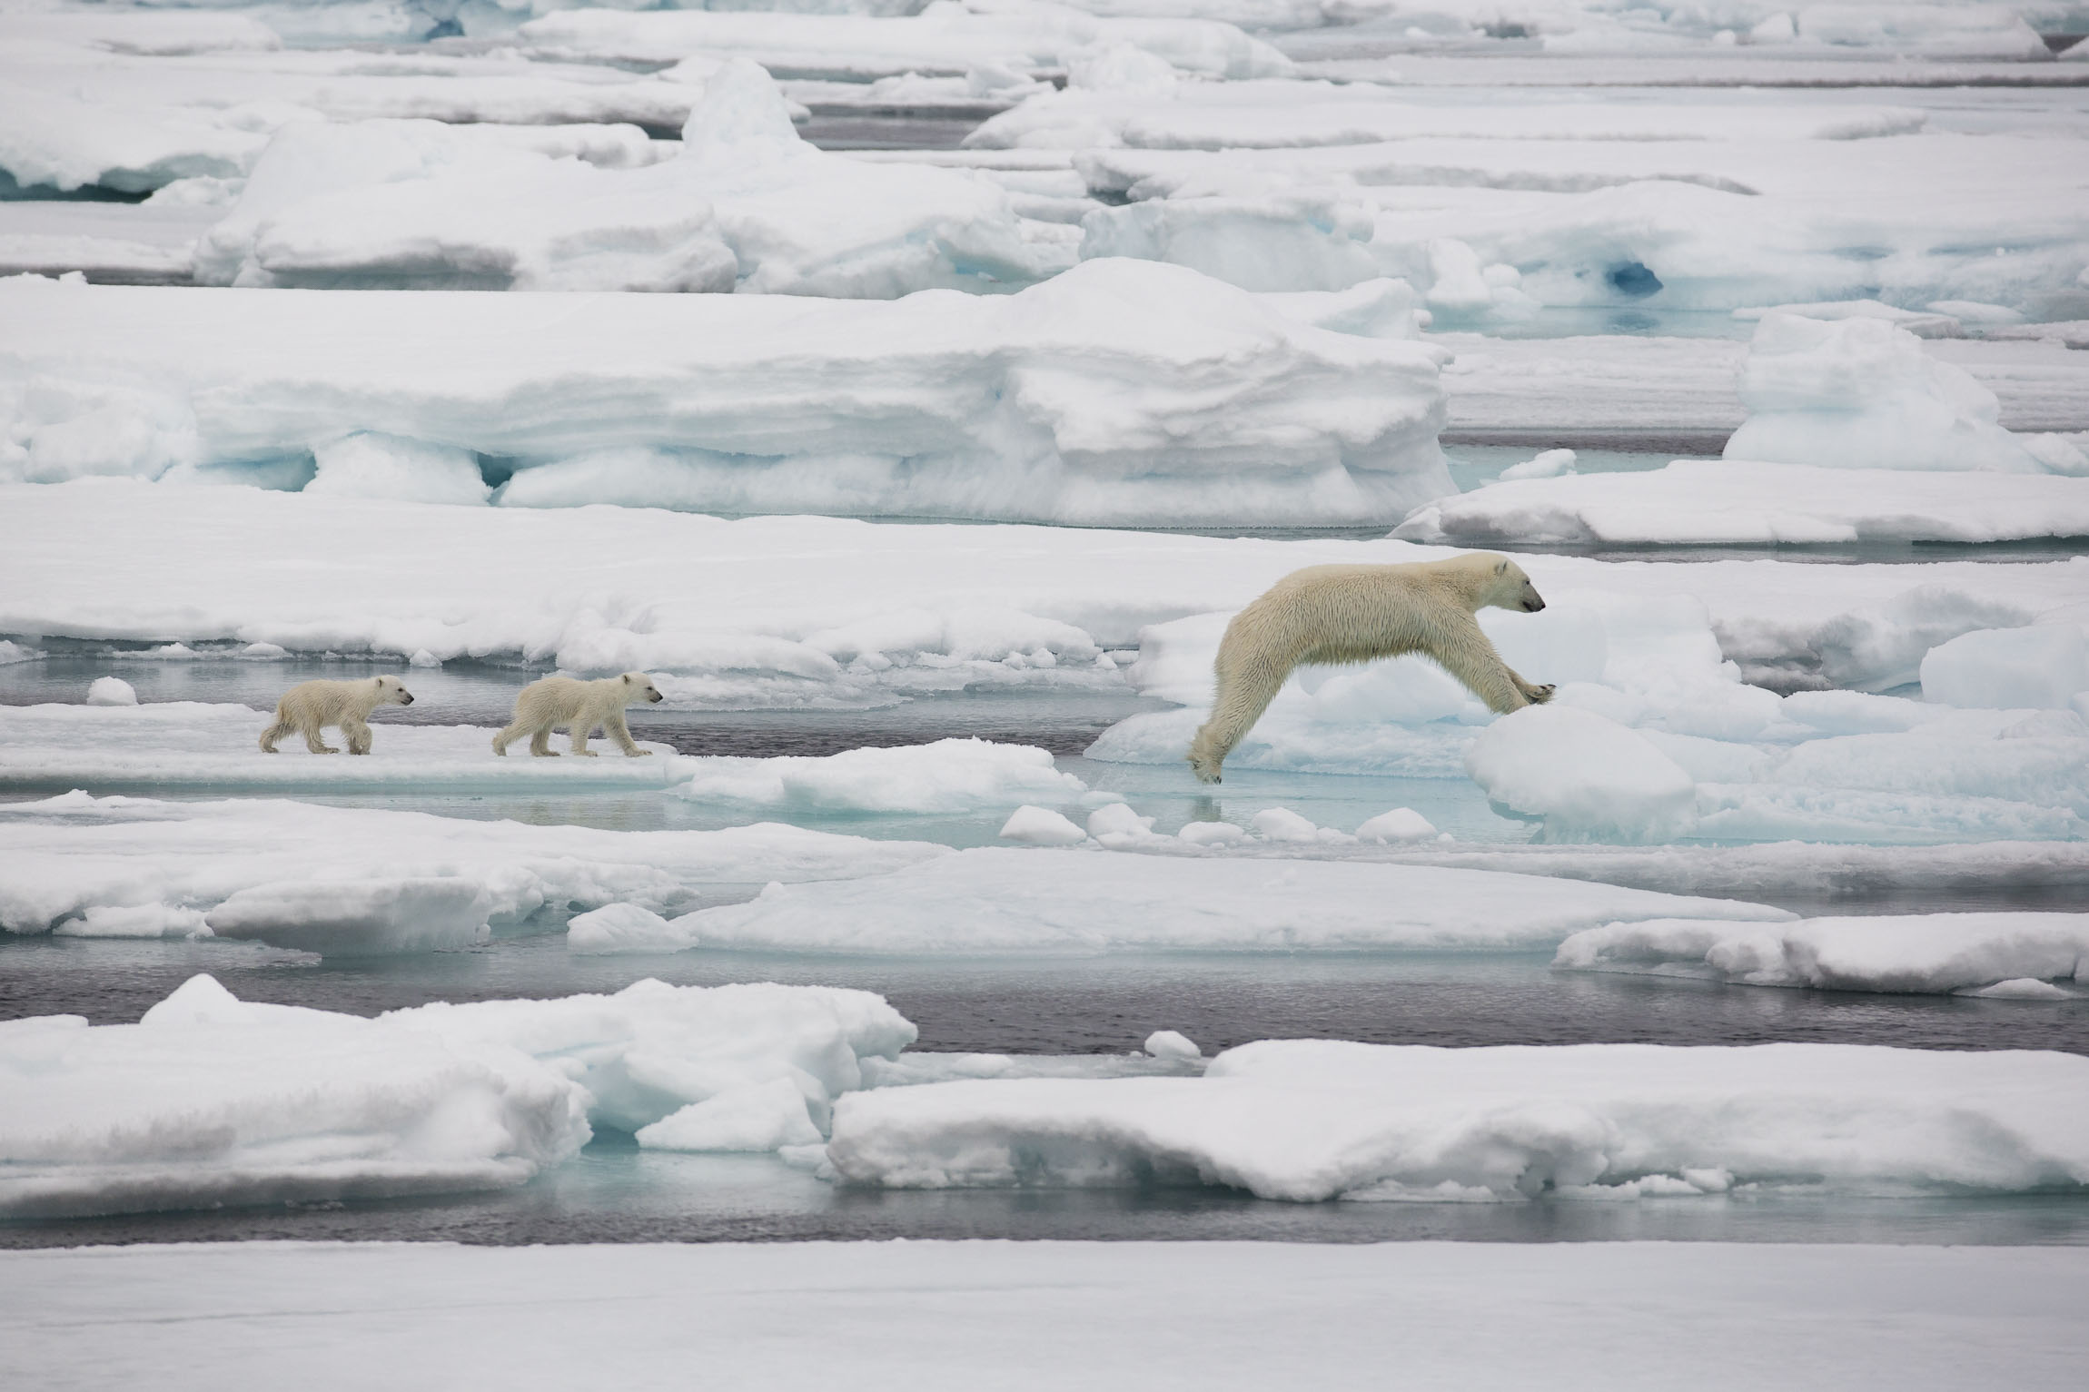
<svg viewBox="0 0 2089 1392"><path fill-rule="evenodd" d="M205 922L328 958L443 952L487 939L491 899L464 877L274 881L226 895Z"/></svg>

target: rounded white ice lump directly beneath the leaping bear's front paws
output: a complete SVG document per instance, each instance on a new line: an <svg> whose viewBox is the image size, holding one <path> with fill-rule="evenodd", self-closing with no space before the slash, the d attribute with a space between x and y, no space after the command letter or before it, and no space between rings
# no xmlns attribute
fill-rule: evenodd
<svg viewBox="0 0 2089 1392"><path fill-rule="evenodd" d="M1546 841L1669 841L1696 820L1696 781L1642 735L1588 710L1504 716L1464 764L1492 803L1542 818Z"/></svg>

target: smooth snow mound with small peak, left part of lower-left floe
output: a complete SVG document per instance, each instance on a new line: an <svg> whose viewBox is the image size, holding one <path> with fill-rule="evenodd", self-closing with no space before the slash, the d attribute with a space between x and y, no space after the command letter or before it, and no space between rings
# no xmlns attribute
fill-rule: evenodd
<svg viewBox="0 0 2089 1392"><path fill-rule="evenodd" d="M499 1190L587 1135L581 1089L512 1048L211 977L138 1025L0 1025L4 1217Z"/></svg>

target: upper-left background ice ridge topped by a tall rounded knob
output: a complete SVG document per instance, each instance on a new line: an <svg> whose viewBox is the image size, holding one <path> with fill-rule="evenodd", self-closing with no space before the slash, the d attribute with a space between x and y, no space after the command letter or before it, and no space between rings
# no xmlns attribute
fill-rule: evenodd
<svg viewBox="0 0 2089 1392"><path fill-rule="evenodd" d="M198 242L196 280L892 298L1032 284L1072 265L1063 232L1022 223L963 169L815 150L775 81L731 61L704 79L679 152L639 169L432 121L290 125Z"/></svg>

